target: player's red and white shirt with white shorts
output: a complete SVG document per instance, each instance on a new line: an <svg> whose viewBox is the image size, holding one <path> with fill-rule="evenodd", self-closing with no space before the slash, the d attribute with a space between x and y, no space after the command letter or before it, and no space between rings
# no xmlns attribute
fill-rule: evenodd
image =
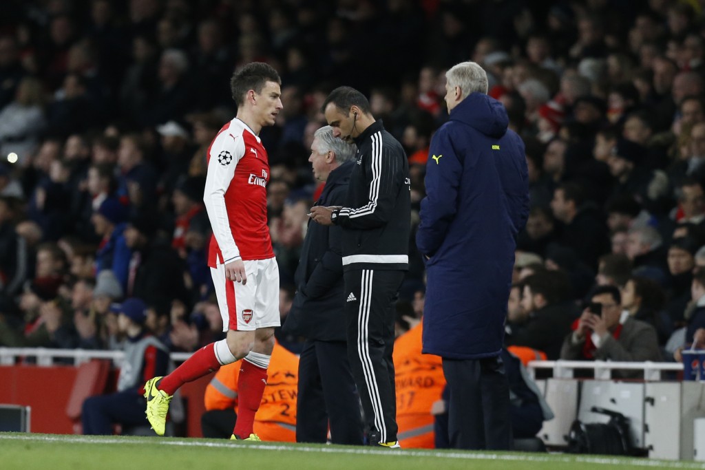
<svg viewBox="0 0 705 470"><path fill-rule="evenodd" d="M213 228L208 266L223 331L280 325L279 268L266 219L269 160L262 141L234 118L208 149L204 204ZM242 259L245 285L227 280L225 265Z"/></svg>

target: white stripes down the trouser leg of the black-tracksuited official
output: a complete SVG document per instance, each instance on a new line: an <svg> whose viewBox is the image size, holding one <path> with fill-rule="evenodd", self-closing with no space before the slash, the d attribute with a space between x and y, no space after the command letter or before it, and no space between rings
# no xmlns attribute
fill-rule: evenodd
<svg viewBox="0 0 705 470"><path fill-rule="evenodd" d="M369 392L369 401L372 403L374 412L374 424L380 433L380 441L386 442L386 426L384 415L382 414L382 404L379 397L379 387L377 386L374 369L372 368L372 358L369 356L369 312L372 307L372 270L362 271L362 283L360 292L360 310L357 315L357 354L362 364L364 381Z"/></svg>

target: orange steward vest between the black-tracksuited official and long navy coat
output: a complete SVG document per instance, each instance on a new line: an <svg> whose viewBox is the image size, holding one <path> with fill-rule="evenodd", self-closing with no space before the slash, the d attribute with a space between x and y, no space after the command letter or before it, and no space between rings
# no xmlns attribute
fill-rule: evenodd
<svg viewBox="0 0 705 470"><path fill-rule="evenodd" d="M441 357L421 354L422 323L394 343L398 439L403 448L434 445L431 405L441 400L446 379Z"/></svg>

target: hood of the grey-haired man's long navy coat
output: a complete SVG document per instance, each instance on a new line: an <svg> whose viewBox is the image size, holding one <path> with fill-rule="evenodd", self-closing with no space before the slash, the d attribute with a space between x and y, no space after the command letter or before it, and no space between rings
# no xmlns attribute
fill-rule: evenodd
<svg viewBox="0 0 705 470"><path fill-rule="evenodd" d="M504 105L484 93L471 93L450 111L450 120L458 120L489 137L499 138L507 132L509 118Z"/></svg>

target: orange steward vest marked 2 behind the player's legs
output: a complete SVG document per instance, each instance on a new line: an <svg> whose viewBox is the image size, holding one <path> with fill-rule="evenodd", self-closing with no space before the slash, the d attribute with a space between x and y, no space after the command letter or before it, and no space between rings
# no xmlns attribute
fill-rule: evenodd
<svg viewBox="0 0 705 470"><path fill-rule="evenodd" d="M260 439L296 442L298 370L299 358L276 343L267 369L262 402L255 414L255 434ZM206 388L207 410L237 408L239 376L240 361L220 368Z"/></svg>

